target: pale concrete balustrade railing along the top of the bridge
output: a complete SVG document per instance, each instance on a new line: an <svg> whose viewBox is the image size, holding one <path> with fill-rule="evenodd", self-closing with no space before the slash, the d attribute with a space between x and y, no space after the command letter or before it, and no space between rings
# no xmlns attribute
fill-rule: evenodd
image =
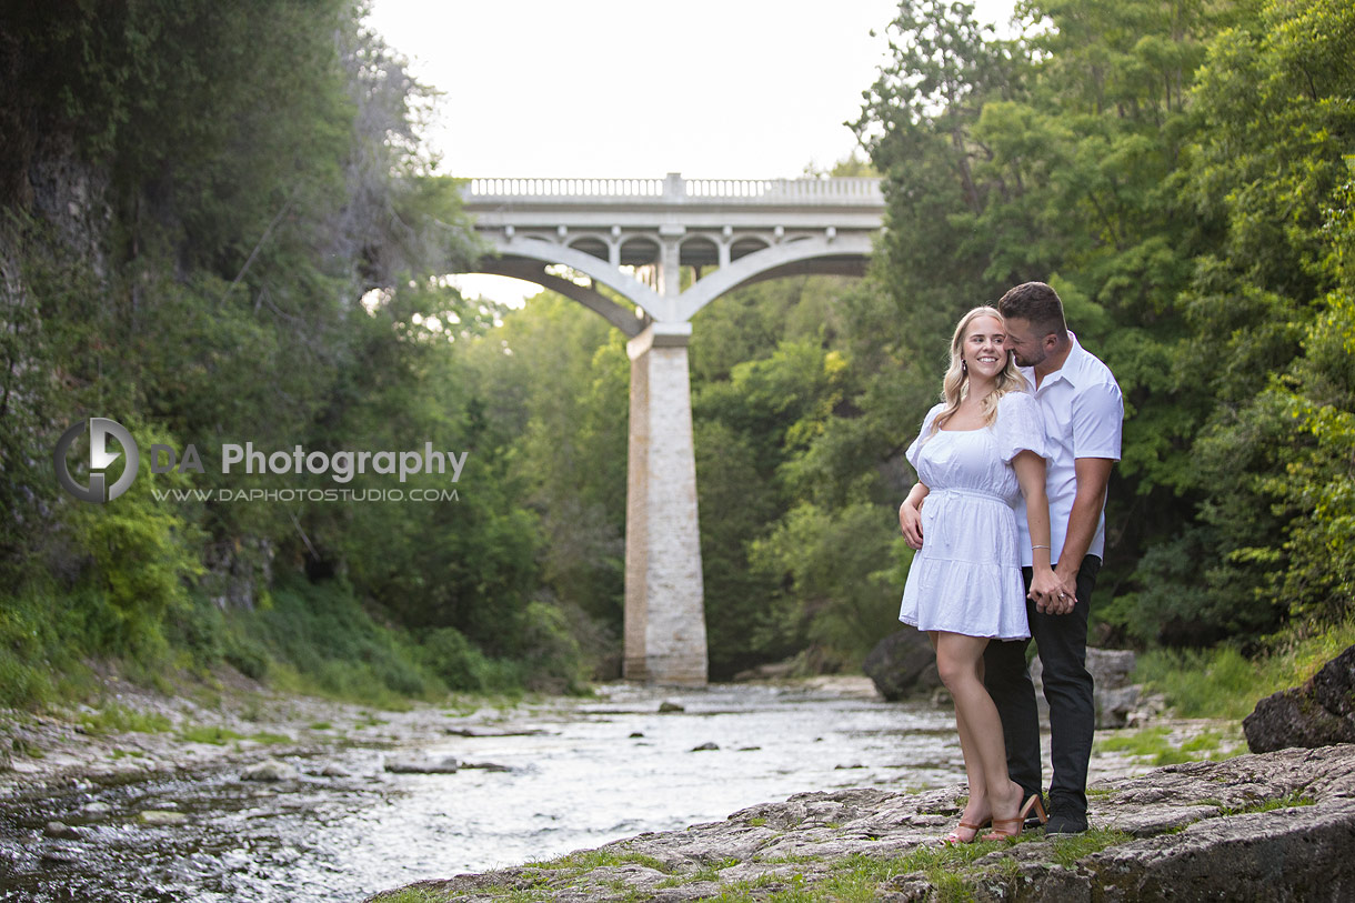
<svg viewBox="0 0 1355 903"><path fill-rule="evenodd" d="M467 179L462 188L467 202L531 201L535 203L579 203L580 201L686 199L722 203L883 203L879 179L837 176L828 179Z"/></svg>

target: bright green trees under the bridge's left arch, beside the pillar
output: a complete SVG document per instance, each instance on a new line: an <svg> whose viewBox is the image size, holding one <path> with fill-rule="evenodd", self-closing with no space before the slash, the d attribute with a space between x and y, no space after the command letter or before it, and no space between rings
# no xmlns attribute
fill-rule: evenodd
<svg viewBox="0 0 1355 903"><path fill-rule="evenodd" d="M607 674L619 660L623 610L630 362L622 336L576 302L542 293L504 313L503 327L463 359L480 473L503 487L503 507L520 506L516 526L533 541L523 572L541 587L533 605L543 617L518 624L538 632L533 643L542 632L572 635L584 667ZM485 629L503 635L501 616L493 610Z"/></svg>

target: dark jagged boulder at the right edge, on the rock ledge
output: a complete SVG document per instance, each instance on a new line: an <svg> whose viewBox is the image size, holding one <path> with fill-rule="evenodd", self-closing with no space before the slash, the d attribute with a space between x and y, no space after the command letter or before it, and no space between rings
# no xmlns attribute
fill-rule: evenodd
<svg viewBox="0 0 1355 903"><path fill-rule="evenodd" d="M1355 645L1302 686L1257 702L1243 719L1243 732L1252 752L1355 743Z"/></svg>

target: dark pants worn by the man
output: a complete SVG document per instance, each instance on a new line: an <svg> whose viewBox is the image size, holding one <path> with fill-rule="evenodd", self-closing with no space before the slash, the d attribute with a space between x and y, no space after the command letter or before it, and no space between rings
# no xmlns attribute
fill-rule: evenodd
<svg viewBox="0 0 1355 903"><path fill-rule="evenodd" d="M1092 675L1087 673L1087 616L1100 559L1088 555L1077 569L1077 605L1069 614L1042 614L1026 602L1031 639L1045 667L1045 700L1049 702L1050 758L1054 776L1049 804L1065 815L1087 814L1087 762L1092 754L1096 706ZM1031 569L1024 568L1026 588ZM1039 755L1039 710L1035 685L1026 667L1030 640L989 643L984 651L984 683L1003 719L1007 770L1026 796L1043 788Z"/></svg>

